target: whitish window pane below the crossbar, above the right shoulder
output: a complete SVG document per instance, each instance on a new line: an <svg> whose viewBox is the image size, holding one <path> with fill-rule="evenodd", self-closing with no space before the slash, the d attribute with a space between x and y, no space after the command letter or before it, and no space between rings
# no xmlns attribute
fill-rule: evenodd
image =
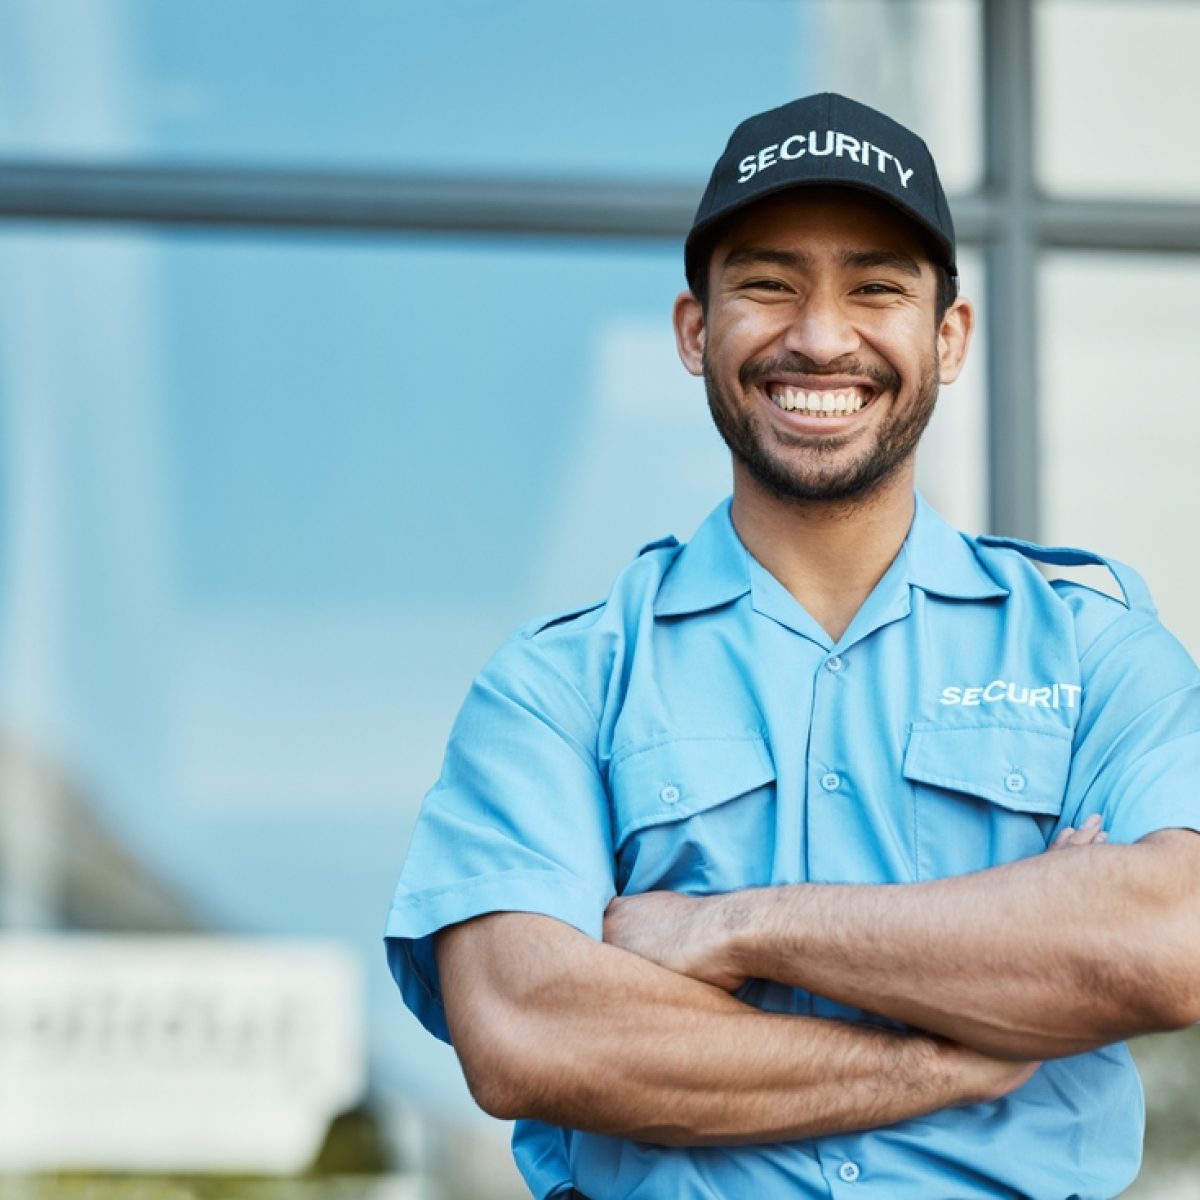
<svg viewBox="0 0 1200 1200"><path fill-rule="evenodd" d="M1200 654L1200 406L1180 398L1195 368L1200 259L1055 254L1042 305L1044 539L1134 565Z"/></svg>

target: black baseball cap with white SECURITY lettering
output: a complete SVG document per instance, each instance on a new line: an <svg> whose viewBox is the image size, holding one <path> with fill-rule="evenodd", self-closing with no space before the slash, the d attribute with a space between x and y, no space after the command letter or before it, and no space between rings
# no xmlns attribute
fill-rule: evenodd
<svg viewBox="0 0 1200 1200"><path fill-rule="evenodd" d="M713 168L684 244L695 290L715 227L779 192L856 187L895 205L928 235L930 250L958 275L954 222L929 146L912 130L857 100L827 91L744 120Z"/></svg>

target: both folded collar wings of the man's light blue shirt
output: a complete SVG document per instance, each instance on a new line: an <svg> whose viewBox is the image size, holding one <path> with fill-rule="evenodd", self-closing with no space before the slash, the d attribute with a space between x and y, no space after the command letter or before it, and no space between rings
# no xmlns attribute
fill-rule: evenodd
<svg viewBox="0 0 1200 1200"><path fill-rule="evenodd" d="M724 500L677 556L654 602L658 617L704 612L750 590L749 552ZM900 551L906 581L935 595L986 600L1008 595L983 568L967 538L943 521L918 493L912 527Z"/></svg>

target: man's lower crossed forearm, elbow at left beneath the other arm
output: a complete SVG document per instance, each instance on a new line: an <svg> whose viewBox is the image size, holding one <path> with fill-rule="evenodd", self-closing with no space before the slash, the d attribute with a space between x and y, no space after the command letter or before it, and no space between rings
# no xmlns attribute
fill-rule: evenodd
<svg viewBox="0 0 1200 1200"><path fill-rule="evenodd" d="M875 1128L1022 1082L940 1039L767 1014L547 918L446 931L455 1048L497 1116L667 1145Z"/></svg>

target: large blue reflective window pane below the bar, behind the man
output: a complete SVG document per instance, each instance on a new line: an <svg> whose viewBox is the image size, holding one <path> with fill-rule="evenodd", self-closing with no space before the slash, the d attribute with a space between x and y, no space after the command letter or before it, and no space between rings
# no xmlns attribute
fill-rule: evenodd
<svg viewBox="0 0 1200 1200"><path fill-rule="evenodd" d="M728 491L680 276L674 245L0 233L0 715L218 924L361 947L413 1088L437 1050L390 1024L379 922L472 676ZM972 526L979 378L923 463Z"/></svg>

